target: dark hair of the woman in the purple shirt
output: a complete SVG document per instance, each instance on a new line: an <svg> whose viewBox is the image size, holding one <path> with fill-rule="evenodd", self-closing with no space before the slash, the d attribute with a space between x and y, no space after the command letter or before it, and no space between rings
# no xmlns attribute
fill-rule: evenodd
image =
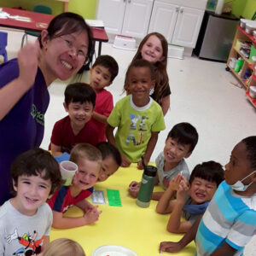
<svg viewBox="0 0 256 256"><path fill-rule="evenodd" d="M93 49L92 44L92 33L90 31L90 26L88 26L84 20L84 18L80 15L73 13L62 13L61 15L55 16L53 20L50 21L49 26L47 28L49 39L59 38L61 36L72 34L74 32L85 31L88 35L88 51L87 56L91 55ZM41 43L41 35L38 37L38 41L40 43L40 47L43 45ZM90 60L89 60L90 61ZM84 62L84 65L88 62Z"/></svg>

